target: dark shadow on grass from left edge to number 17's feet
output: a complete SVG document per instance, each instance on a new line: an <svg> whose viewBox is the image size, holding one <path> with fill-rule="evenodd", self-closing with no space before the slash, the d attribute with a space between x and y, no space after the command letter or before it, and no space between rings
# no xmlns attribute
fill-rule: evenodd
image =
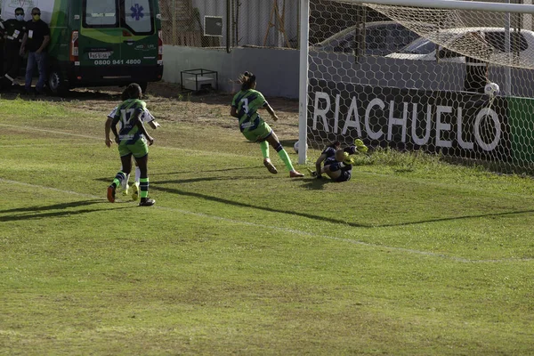
<svg viewBox="0 0 534 356"><path fill-rule="evenodd" d="M70 203L53 204L51 206L28 206L28 207L19 207L16 209L0 210L0 214L20 213L20 214L8 215L8 216L0 216L0 222L14 222L14 221L20 221L20 220L43 219L43 218L48 218L48 217L59 217L59 216L64 216L64 215L70 216L70 215L93 213L93 212L98 212L98 211L109 210L109 208L108 209L70 210L70 208L72 207L90 206L93 204L101 204L101 203L102 203L102 200L80 200L80 201L74 201ZM116 209L125 209L129 207L131 206L119 206ZM61 211L52 212L51 210L61 210ZM50 212L45 213L47 211L50 211Z"/></svg>

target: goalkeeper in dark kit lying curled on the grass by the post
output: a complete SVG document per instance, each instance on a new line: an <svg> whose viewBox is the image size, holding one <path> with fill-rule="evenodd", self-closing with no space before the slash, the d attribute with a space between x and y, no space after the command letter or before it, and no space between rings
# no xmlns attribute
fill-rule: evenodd
<svg viewBox="0 0 534 356"><path fill-rule="evenodd" d="M317 158L315 162L316 171L311 171L310 173L316 178L322 178L323 173L327 174L334 182L349 181L352 174L352 164L354 163L354 158L351 155L367 151L367 146L360 139L357 139L354 145L344 149L341 149L340 142L332 142ZM323 164L322 168L321 164Z"/></svg>

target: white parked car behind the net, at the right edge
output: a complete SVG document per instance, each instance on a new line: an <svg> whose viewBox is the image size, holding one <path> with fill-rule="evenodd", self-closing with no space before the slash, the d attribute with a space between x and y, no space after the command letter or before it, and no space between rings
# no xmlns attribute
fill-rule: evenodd
<svg viewBox="0 0 534 356"><path fill-rule="evenodd" d="M477 48L483 51L485 47L490 48L487 53L491 61L506 63L513 58L516 62L523 62L527 67L532 67L534 65L534 32L522 29L517 32L511 30L509 34L511 51L506 50L505 28L447 28L431 33L428 38L419 37L400 51L385 57L413 61L439 60L464 63L464 55L451 51L457 49L463 53L473 53L472 51L476 52ZM451 51L443 50L443 47ZM510 55L510 52L513 55ZM439 53L439 59L436 59L436 53Z"/></svg>

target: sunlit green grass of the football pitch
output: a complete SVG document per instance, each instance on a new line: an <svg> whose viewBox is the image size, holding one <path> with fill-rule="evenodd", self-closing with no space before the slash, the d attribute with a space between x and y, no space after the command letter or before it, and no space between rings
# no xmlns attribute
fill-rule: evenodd
<svg viewBox="0 0 534 356"><path fill-rule="evenodd" d="M290 180L163 120L157 205L109 204L112 106L0 101L0 354L534 354L530 178L377 151Z"/></svg>

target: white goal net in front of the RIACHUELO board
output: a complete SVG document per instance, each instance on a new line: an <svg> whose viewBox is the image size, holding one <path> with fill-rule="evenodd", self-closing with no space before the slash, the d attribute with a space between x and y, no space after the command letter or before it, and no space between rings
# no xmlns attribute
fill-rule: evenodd
<svg viewBox="0 0 534 356"><path fill-rule="evenodd" d="M471 8L440 8L459 3ZM309 147L360 138L374 150L531 174L534 7L476 3L311 0L301 125Z"/></svg>

